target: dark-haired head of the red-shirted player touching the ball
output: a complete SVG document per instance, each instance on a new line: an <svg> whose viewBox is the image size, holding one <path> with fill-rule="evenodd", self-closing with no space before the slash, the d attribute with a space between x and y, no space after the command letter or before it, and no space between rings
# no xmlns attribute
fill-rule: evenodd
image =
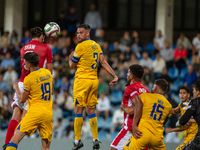
<svg viewBox="0 0 200 150"><path fill-rule="evenodd" d="M40 27L35 27L31 29L31 38L38 39L39 42L44 42L44 30Z"/></svg>

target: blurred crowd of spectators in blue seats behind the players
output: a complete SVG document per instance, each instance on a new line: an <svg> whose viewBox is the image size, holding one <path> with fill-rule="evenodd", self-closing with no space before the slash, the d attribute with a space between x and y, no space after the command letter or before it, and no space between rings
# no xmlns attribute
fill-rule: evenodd
<svg viewBox="0 0 200 150"><path fill-rule="evenodd" d="M79 25L78 15L74 7L69 13L60 12L56 21L61 28L58 38L46 38L53 52L53 110L54 110L54 138L74 138L74 106L73 106L73 82L76 69L69 67L69 54L78 44L76 29ZM123 31L124 33L116 41L111 41L101 26L100 13L91 5L86 14L84 23L91 26L91 39L95 40L102 48L104 57L119 77L116 86L110 88L108 83L112 77L99 64L98 77L98 101L96 106L98 116L99 139L113 139L121 129L123 112L120 104L127 84L126 74L132 64L140 64L144 67L144 76L141 83L150 91L153 83L158 78L164 78L169 82L169 89L165 94L173 107L180 103L179 87L192 84L200 77L200 32L189 39L184 33L175 43L170 43L168 38L160 30L156 31L154 38L144 43L146 36L141 37L136 30ZM16 31L5 31L0 36L0 127L1 136L5 136L10 117L12 115L11 103L14 90L12 85L18 82L21 74L20 49L31 41L30 29L24 31L23 38L18 37ZM192 93L191 93L192 95ZM88 118L84 115L82 129L83 138L92 138ZM171 115L166 127L175 127L178 116ZM4 134L2 133L4 132ZM37 137L38 133L32 135ZM180 142L184 133L175 133L169 142ZM166 139L167 140L167 139Z"/></svg>

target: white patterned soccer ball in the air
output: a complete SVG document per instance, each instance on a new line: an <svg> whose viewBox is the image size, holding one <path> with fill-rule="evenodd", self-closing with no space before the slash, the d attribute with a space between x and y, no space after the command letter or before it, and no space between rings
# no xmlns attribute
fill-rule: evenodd
<svg viewBox="0 0 200 150"><path fill-rule="evenodd" d="M55 22L49 22L45 25L44 32L47 37L56 38L60 34L60 27Z"/></svg>

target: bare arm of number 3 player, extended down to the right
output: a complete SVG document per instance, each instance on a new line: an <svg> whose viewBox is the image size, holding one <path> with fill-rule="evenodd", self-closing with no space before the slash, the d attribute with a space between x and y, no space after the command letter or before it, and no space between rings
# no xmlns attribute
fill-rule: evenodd
<svg viewBox="0 0 200 150"><path fill-rule="evenodd" d="M115 72L113 71L113 69L110 67L110 65L107 63L107 61L104 59L103 54L100 55L100 63L103 66L103 68L114 78L109 85L111 87L115 86L117 84L118 81L118 77L115 74Z"/></svg>

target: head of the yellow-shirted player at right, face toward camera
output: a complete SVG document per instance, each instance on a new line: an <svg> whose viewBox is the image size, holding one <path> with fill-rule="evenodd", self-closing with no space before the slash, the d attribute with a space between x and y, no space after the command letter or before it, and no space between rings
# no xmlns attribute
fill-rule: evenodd
<svg viewBox="0 0 200 150"><path fill-rule="evenodd" d="M190 98L190 88L187 86L181 86L179 88L179 97L182 102L188 101L188 99Z"/></svg>

